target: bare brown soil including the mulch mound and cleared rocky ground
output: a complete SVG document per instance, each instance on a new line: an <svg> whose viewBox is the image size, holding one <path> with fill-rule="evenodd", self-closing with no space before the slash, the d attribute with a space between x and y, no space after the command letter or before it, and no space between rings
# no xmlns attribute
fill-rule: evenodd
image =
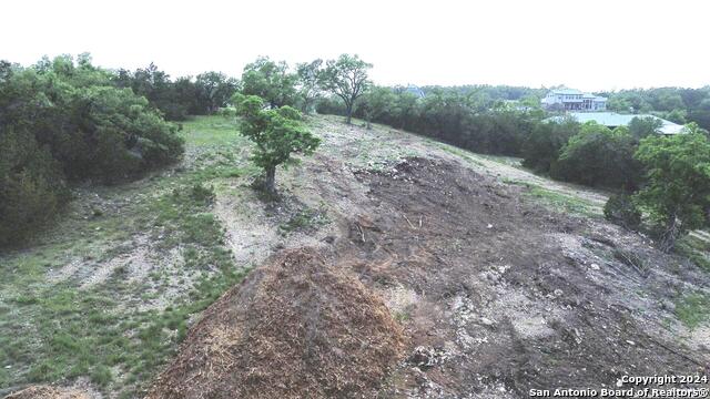
<svg viewBox="0 0 710 399"><path fill-rule="evenodd" d="M303 173L321 177L303 190L333 204L339 237L227 293L151 398L515 398L710 359L661 326L663 304L708 277L637 234L526 203L447 156L378 172L320 156Z"/></svg>

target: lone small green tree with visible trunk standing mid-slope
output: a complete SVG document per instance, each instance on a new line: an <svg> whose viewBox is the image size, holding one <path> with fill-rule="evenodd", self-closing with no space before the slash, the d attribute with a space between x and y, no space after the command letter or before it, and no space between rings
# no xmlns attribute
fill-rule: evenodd
<svg viewBox="0 0 710 399"><path fill-rule="evenodd" d="M284 105L264 109L264 101L256 95L236 94L233 98L237 115L242 116L240 133L256 144L251 161L264 170L263 188L276 194L276 166L293 165L293 154L311 155L321 144L301 123L301 113Z"/></svg>

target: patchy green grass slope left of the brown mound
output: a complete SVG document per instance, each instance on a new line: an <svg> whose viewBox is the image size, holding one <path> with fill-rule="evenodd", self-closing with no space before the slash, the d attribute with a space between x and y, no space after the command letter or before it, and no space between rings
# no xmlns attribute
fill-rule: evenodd
<svg viewBox="0 0 710 399"><path fill-rule="evenodd" d="M85 377L104 392L140 397L189 320L247 273L248 265L235 265L224 246L210 183L253 173L247 143L222 116L196 117L181 134L185 168L84 190L32 247L0 255L0 387ZM72 262L88 270L82 273L105 266L131 254L141 236L159 250L160 267L145 278L129 278L128 264L93 286L81 286L81 273L50 278ZM183 255L176 264L160 259L175 250ZM166 296L171 289L175 296Z"/></svg>

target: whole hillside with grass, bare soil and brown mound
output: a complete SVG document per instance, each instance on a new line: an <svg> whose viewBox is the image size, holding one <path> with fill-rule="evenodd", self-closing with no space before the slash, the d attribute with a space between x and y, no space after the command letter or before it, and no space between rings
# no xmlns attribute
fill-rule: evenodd
<svg viewBox="0 0 710 399"><path fill-rule="evenodd" d="M308 123L281 202L236 125L199 117L180 165L79 187L2 254L0 395L518 398L707 367L708 272L604 221L605 193Z"/></svg>

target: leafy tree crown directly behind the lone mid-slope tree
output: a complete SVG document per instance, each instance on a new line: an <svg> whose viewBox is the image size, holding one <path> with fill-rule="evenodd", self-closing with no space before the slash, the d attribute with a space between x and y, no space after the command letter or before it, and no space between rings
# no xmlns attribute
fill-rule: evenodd
<svg viewBox="0 0 710 399"><path fill-rule="evenodd" d="M242 94L260 96L271 108L294 105L296 80L297 76L288 72L285 61L274 62L268 57L260 57L244 66Z"/></svg>

